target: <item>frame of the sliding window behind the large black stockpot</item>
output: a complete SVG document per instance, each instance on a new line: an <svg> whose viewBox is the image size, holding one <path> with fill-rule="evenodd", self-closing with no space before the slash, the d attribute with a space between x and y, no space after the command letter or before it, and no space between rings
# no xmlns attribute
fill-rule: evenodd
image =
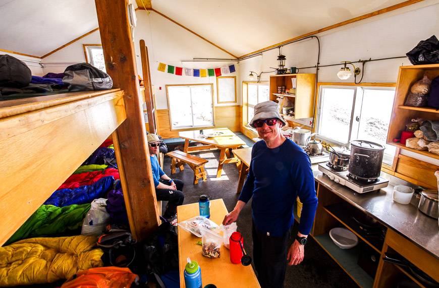
<svg viewBox="0 0 439 288"><path fill-rule="evenodd" d="M351 110L351 122L349 125L349 140L348 143L341 143L339 141L336 141L334 139L322 136L319 134L319 139L323 140L324 142L328 142L331 144L336 144L339 146L344 146L349 148L350 146L350 141L352 138L352 131L353 128L357 129L357 133L358 133L358 129L359 129L359 122L354 124L354 117L355 117L355 109L357 107L357 105L362 105L362 98L364 93L362 95L357 95L357 88L359 87L364 87L365 89L369 89L369 90L392 90L392 89L396 89L396 83L360 83L360 84L355 84L355 83L332 83L332 82L318 82L317 83L317 101L316 101L316 107L315 107L315 132L319 133L320 132L320 116L321 116L321 102L322 102L322 88L336 88L336 89L353 89L354 90L354 99L353 99L353 103L352 103L352 110ZM358 101L357 101L358 100ZM360 101L361 100L361 101ZM395 105L395 102L394 102ZM359 116L361 118L361 110L359 111ZM356 126L356 127L354 127ZM390 166L389 164L386 163L382 163L381 167L391 170L391 171L395 171L395 165L396 165L396 161L395 158L398 157L399 151L398 149L395 151L395 156L394 156L394 160L393 160L393 164L392 166Z"/></svg>

